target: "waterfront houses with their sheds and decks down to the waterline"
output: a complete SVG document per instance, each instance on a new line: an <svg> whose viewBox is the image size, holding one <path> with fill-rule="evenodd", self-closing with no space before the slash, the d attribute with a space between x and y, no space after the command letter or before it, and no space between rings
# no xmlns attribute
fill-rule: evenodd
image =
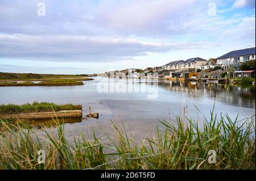
<svg viewBox="0 0 256 181"><path fill-rule="evenodd" d="M196 58L188 58L187 60L177 60L169 62L163 66L156 66L154 68L146 68L146 69L125 69L122 71L112 71L109 74L113 76L110 77L119 77L119 78L164 78L176 80L185 80L191 79L192 81L207 81L207 79L215 80L218 82L226 82L228 79L233 76L241 76L248 77L254 76L251 74L243 74L240 71L240 66L243 62L247 62L250 60L254 60L255 58L255 48L246 48L241 50L234 50L232 52L226 53L218 58L209 58L205 60L200 57ZM255 61L255 60L254 60ZM246 68L242 66L242 70L251 70L251 64L248 65L250 68ZM195 74L196 72L200 72L200 74ZM236 74L234 74L236 71ZM125 73L125 74L123 74ZM142 75L140 73L145 73ZM146 75L149 73L148 75ZM188 73L193 73L191 76ZM122 75L121 75L122 74ZM153 75L152 75L153 74ZM104 75L108 75L105 73Z"/></svg>

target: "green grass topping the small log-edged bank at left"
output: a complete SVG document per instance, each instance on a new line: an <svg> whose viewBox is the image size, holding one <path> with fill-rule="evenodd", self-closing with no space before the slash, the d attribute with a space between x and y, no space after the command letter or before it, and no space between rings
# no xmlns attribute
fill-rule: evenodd
<svg viewBox="0 0 256 181"><path fill-rule="evenodd" d="M81 110L81 105L73 104L54 104L47 102L34 102L32 104L1 104L0 114L13 114L13 113L31 113L31 112L52 112L52 111L63 111L63 110Z"/></svg>

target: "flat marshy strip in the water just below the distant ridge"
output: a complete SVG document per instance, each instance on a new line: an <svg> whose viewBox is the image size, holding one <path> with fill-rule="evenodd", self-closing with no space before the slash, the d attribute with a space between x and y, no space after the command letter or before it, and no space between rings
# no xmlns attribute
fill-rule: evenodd
<svg viewBox="0 0 256 181"><path fill-rule="evenodd" d="M80 78L80 79L49 79L39 83L30 81L26 82L0 82L0 87L8 86L79 86L84 85L82 81L92 81L92 78Z"/></svg>

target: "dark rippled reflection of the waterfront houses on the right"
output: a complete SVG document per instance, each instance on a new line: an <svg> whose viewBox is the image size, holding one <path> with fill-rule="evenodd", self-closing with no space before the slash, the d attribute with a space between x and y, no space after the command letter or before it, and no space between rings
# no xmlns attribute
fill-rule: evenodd
<svg viewBox="0 0 256 181"><path fill-rule="evenodd" d="M226 104L255 107L255 86L204 82L163 81L159 86L169 91L183 92L195 98L214 98Z"/></svg>

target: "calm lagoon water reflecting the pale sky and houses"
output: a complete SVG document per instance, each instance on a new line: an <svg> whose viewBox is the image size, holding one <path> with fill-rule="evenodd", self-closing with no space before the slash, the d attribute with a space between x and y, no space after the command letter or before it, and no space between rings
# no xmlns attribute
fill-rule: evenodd
<svg viewBox="0 0 256 181"><path fill-rule="evenodd" d="M137 90L135 92L102 92L109 83L117 89ZM132 132L145 134L159 123L158 120L174 121L177 115L187 115L195 120L209 112L215 104L218 116L228 113L234 118L245 119L255 115L255 86L221 85L197 82L158 80L109 79L96 77L85 81L84 86L61 87L0 87L0 103L22 104L38 102L82 104L83 115L89 111L100 113L100 119L88 119L66 124L69 134L75 134L79 127L88 131L99 125L106 129L110 119L125 123ZM103 86L99 86L103 85ZM99 87L100 92L99 92ZM110 90L110 88L109 88ZM139 91L138 91L139 90ZM146 91L145 91L146 90ZM153 95L154 99L149 99ZM200 110L200 112L198 110Z"/></svg>

